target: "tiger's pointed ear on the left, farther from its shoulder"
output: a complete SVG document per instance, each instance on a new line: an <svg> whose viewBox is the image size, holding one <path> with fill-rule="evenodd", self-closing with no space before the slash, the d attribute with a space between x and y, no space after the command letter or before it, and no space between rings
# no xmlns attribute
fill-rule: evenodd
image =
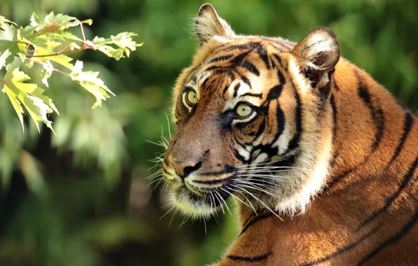
<svg viewBox="0 0 418 266"><path fill-rule="evenodd" d="M231 37L235 35L228 23L217 15L215 8L210 3L205 3L199 8L195 29L201 45L207 43L213 36Z"/></svg>

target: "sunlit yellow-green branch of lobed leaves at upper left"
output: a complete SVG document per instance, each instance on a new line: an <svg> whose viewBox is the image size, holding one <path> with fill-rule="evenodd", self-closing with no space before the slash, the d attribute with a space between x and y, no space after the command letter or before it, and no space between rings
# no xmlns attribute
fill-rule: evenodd
<svg viewBox="0 0 418 266"><path fill-rule="evenodd" d="M114 95L98 78L99 72L83 71L83 62L72 63L68 54L81 50L100 50L116 60L129 57L130 52L142 43L135 43L132 32L122 32L110 38L96 36L85 40L83 25L91 25L92 20L78 20L69 15L53 12L40 19L35 13L30 18L30 25L18 27L14 22L0 16L0 70L6 68L4 78L0 76L3 92L7 94L23 126L23 113L26 111L36 123L46 124L52 130L48 114L58 113L52 99L43 94L38 84L32 83L20 66L29 68L40 66L41 83L49 87L48 78L54 72L72 78L95 97L93 109L102 101ZM70 27L81 27L82 38L67 31ZM15 58L19 58L15 59ZM64 68L64 69L63 69ZM58 113L59 114L59 113Z"/></svg>

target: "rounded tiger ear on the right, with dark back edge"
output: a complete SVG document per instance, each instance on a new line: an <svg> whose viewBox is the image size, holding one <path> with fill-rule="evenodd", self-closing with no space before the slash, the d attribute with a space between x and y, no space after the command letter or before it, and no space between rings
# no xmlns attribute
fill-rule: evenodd
<svg viewBox="0 0 418 266"><path fill-rule="evenodd" d="M292 50L297 57L306 78L311 80L312 87L326 85L328 73L332 71L339 60L339 44L337 35L328 28L317 28L309 31L302 41ZM327 74L324 76L324 74ZM332 72L331 72L332 73Z"/></svg>

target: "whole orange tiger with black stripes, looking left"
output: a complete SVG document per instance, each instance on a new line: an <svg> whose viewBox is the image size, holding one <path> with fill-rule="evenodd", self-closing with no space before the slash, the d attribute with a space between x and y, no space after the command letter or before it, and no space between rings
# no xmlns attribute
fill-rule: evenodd
<svg viewBox="0 0 418 266"><path fill-rule="evenodd" d="M418 123L321 27L298 43L198 10L173 87L168 198L239 234L213 266L418 265Z"/></svg>

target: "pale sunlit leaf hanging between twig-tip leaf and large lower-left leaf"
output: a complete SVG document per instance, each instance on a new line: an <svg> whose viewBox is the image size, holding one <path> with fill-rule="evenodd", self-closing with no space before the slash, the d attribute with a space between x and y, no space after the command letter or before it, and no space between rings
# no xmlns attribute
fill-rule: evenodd
<svg viewBox="0 0 418 266"><path fill-rule="evenodd" d="M95 109L97 106L102 105L102 101L106 101L106 99L109 98L109 94L107 94L107 92L112 95L114 95L114 93L111 92L106 85L104 85L103 80L97 78L99 72L82 71L82 69L83 62L77 60L71 73L71 78L88 90L88 92L93 94L96 102L92 109Z"/></svg>

